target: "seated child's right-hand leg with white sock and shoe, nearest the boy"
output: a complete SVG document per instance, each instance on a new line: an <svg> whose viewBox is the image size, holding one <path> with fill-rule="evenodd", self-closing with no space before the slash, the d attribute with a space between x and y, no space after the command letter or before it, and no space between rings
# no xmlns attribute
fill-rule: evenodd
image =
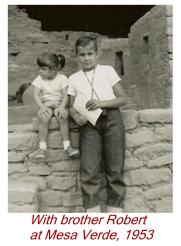
<svg viewBox="0 0 181 246"><path fill-rule="evenodd" d="M64 147L65 152L67 153L69 157L72 157L72 158L79 157L79 150L72 148L70 144L68 110L67 110L66 117L61 118L61 117L56 116L56 119L59 122L60 131L61 131L62 138L63 138L63 147Z"/></svg>

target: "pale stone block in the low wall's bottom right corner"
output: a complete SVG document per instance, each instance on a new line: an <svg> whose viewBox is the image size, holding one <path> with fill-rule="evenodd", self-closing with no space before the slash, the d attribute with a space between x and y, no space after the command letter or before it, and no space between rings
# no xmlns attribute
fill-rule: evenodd
<svg viewBox="0 0 181 246"><path fill-rule="evenodd" d="M161 200L150 201L149 206L157 213L172 213L173 199L172 197L165 197Z"/></svg>

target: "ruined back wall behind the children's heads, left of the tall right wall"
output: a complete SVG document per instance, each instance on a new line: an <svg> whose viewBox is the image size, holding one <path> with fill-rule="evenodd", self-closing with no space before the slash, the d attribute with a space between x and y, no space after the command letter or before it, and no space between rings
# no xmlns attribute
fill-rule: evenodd
<svg viewBox="0 0 181 246"><path fill-rule="evenodd" d="M26 12L13 5L8 7L8 30L9 94L14 95L20 85L33 81L38 74L37 56L44 52L64 54L66 66L62 72L67 76L77 71L74 45L80 36L86 34L97 37L99 44L102 41L103 52L99 54L101 64L114 66L117 59L116 52L119 51L123 52L125 66L127 64L128 39L109 39L97 33L81 31L42 31L40 21L30 19ZM119 64L116 69L120 73Z"/></svg>

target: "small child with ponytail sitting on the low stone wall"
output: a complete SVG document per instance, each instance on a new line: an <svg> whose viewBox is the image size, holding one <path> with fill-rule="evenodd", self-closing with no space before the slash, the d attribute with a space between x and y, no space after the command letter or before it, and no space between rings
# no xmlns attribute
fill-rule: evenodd
<svg viewBox="0 0 181 246"><path fill-rule="evenodd" d="M54 53L44 53L37 58L39 75L33 81L34 99L40 107L39 119L39 150L36 158L45 158L47 151L48 123L54 115L59 122L63 137L63 147L66 154L71 158L79 156L79 151L70 145L68 125L68 79L60 74L65 58Z"/></svg>

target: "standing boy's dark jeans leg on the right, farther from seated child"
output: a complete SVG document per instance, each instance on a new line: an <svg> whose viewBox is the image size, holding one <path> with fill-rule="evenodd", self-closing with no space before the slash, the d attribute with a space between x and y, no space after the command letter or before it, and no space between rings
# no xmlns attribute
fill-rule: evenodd
<svg viewBox="0 0 181 246"><path fill-rule="evenodd" d="M107 205L123 208L125 184L123 169L125 158L124 126L119 110L108 110L104 135L104 155L106 160Z"/></svg>

